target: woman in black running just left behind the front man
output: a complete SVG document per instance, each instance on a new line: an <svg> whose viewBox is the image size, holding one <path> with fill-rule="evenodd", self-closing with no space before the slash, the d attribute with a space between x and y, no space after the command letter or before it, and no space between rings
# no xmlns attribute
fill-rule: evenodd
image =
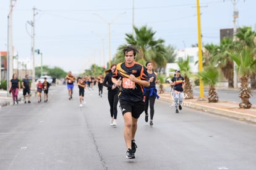
<svg viewBox="0 0 256 170"><path fill-rule="evenodd" d="M111 124L116 125L117 118L117 103L118 103L118 88L112 82L112 75L114 70L116 69L116 64L112 64L110 69L105 70L106 76L103 82L103 85L108 88L108 102L110 106L110 116L111 116Z"/></svg>

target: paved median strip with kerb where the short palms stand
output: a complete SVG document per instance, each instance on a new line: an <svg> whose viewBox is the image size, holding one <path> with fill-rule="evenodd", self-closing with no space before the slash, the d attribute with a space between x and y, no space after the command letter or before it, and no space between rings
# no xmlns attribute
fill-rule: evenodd
<svg viewBox="0 0 256 170"><path fill-rule="evenodd" d="M171 94L164 91L160 96L159 100L173 103ZM205 111L205 113L218 114L221 116L232 117L239 121L250 121L256 122L256 105L252 105L251 109L240 109L239 103L232 101L218 101L218 103L208 103L208 100L198 101L198 97L194 96L194 99L183 100L183 106ZM174 112L174 110L173 110Z"/></svg>

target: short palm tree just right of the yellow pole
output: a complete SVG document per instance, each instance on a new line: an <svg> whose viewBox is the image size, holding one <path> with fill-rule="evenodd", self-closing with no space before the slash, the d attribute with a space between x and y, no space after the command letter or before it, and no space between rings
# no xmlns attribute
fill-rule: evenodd
<svg viewBox="0 0 256 170"><path fill-rule="evenodd" d="M218 82L218 70L216 67L210 65L202 72L198 72L198 76L203 80L205 85L209 85L208 102L218 102L218 93L215 90L215 85Z"/></svg>

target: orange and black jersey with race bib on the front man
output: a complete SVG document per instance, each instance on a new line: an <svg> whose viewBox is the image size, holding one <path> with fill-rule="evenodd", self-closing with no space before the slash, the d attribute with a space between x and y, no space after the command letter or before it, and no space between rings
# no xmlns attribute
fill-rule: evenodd
<svg viewBox="0 0 256 170"><path fill-rule="evenodd" d="M127 79L130 74L133 74L139 80L148 81L147 70L139 62L134 62L134 65L131 67L127 67L126 62L117 64L113 77L115 79L121 77L122 80L122 85L119 88L119 99L133 102L142 101L143 87Z"/></svg>

